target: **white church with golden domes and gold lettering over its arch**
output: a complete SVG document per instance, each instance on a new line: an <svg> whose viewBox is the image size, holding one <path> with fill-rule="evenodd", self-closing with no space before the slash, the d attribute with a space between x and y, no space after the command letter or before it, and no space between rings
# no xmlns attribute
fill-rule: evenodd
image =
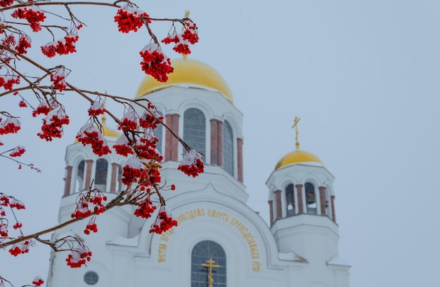
<svg viewBox="0 0 440 287"><path fill-rule="evenodd" d="M79 236L93 256L86 267L71 269L65 253L53 252L47 286L348 287L350 266L338 255L337 191L330 171L298 144L278 163L274 159L266 180L268 226L247 206L243 114L228 84L197 60L172 64L169 81L146 76L136 98L153 102L167 126L204 155L205 173L188 177L177 170L183 148L162 126L156 129L162 181L176 185L163 195L179 225L150 233L155 216L137 218L133 206L123 206L98 215L96 234L84 234L86 220L63 227L53 239ZM110 147L119 138L105 119L103 134ZM108 200L114 198L123 189L126 160L115 152L100 158L79 142L69 145L59 222L71 219L79 192L92 179Z"/></svg>

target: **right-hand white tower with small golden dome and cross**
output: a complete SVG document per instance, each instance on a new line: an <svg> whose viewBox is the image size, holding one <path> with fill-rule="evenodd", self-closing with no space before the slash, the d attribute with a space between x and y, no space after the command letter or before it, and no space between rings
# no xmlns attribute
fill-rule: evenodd
<svg viewBox="0 0 440 287"><path fill-rule="evenodd" d="M295 117L295 151L278 161L266 182L271 232L280 253L295 254L309 263L313 272L304 274L310 280L314 272L328 278L340 272L336 286L348 286L350 267L338 254L335 178L318 156L299 149L298 121Z"/></svg>

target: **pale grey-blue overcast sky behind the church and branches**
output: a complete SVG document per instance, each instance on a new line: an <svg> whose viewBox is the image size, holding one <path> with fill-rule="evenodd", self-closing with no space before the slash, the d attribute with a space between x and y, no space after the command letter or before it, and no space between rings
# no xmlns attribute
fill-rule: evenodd
<svg viewBox="0 0 440 287"><path fill-rule="evenodd" d="M291 126L299 116L301 148L336 177L339 255L352 265L351 286L439 286L439 1L139 2L152 17L189 10L198 24L200 43L189 57L224 76L245 115L252 208L268 221L265 181L295 149ZM144 77L138 51L148 35L119 34L110 8L73 11L89 25L79 33L79 53L51 64L70 67L76 86L133 97ZM37 36L34 45L50 41ZM65 147L85 124L87 108L64 100L72 124L62 140L41 142L34 135L39 120L27 124L25 115L22 135L1 138L25 145L24 159L43 170L0 162L1 192L27 203L19 214L25 232L57 222ZM0 99L0 110L9 105L18 111L17 98ZM44 246L13 258L3 251L0 275L18 286L36 274L46 278L49 252Z"/></svg>

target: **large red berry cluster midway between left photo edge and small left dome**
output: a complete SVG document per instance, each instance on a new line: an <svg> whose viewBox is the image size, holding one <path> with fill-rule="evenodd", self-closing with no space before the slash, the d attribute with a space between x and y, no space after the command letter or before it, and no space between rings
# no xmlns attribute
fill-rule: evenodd
<svg viewBox="0 0 440 287"><path fill-rule="evenodd" d="M51 141L52 138L61 138L63 136L63 125L67 125L69 122L69 116L65 114L64 107L57 104L43 119L41 133L37 133L37 135L48 142Z"/></svg>

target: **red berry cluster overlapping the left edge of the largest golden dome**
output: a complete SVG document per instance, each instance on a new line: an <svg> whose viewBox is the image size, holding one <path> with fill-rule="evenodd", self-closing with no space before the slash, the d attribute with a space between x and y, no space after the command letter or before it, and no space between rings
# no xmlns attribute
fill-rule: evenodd
<svg viewBox="0 0 440 287"><path fill-rule="evenodd" d="M174 71L171 60L165 56L157 44L148 44L140 52L141 68L145 74L153 76L157 81L168 81L168 74Z"/></svg>

